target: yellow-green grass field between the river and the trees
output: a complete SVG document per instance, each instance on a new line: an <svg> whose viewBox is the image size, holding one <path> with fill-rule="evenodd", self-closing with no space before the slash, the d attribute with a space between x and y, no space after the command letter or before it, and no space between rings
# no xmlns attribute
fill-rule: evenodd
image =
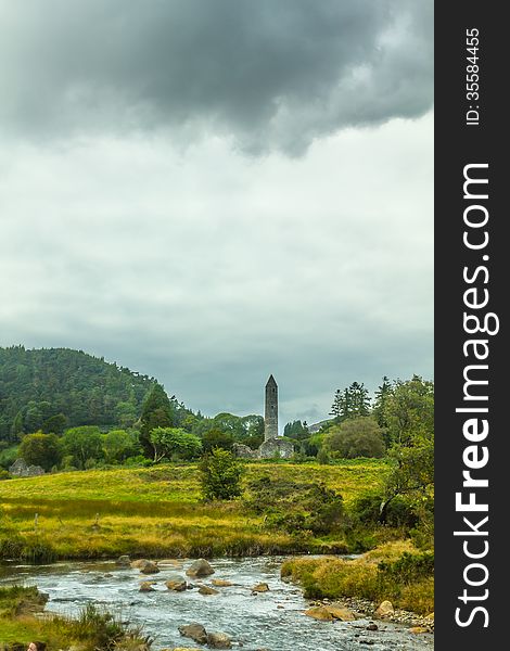
<svg viewBox="0 0 510 651"><path fill-rule="evenodd" d="M345 503L377 487L384 460L246 463L244 483L263 475L324 482ZM247 556L334 551L344 540L298 539L268 531L242 502L204 503L196 467L93 470L0 482L0 558L55 560L132 556ZM36 523L37 514L37 523Z"/></svg>

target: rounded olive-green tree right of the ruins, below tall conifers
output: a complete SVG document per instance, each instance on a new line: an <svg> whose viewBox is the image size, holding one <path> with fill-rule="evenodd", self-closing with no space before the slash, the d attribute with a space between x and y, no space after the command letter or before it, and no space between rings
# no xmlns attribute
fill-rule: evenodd
<svg viewBox="0 0 510 651"><path fill-rule="evenodd" d="M384 456L381 427L370 417L348 419L331 427L324 445L328 451L345 459Z"/></svg>

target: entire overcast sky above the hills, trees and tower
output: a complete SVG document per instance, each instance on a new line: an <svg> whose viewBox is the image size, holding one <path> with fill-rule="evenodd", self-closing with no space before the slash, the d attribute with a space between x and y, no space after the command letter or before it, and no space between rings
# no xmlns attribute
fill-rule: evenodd
<svg viewBox="0 0 510 651"><path fill-rule="evenodd" d="M193 409L432 378L431 0L0 0L0 345Z"/></svg>

